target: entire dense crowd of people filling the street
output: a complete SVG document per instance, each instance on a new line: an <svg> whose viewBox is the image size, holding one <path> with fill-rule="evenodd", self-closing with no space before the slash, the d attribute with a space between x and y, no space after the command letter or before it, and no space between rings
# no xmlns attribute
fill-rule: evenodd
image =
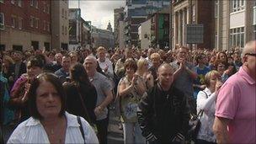
<svg viewBox="0 0 256 144"><path fill-rule="evenodd" d="M107 143L109 105L124 142L256 143L256 41L243 50L1 51L1 139ZM12 131L11 136L6 136Z"/></svg>

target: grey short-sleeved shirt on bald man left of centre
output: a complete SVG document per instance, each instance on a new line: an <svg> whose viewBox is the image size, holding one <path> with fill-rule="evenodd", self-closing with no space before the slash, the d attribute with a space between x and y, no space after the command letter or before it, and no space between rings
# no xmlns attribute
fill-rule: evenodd
<svg viewBox="0 0 256 144"><path fill-rule="evenodd" d="M91 83L93 83L94 87L96 88L97 91L97 103L96 106L99 106L104 99L107 97L105 95L105 92L111 91L112 90L112 85L109 81L108 77L105 77L103 74L96 72L93 79L90 79ZM97 115L97 120L104 120L107 118L108 115L108 109L105 108L104 112L101 113L101 115Z"/></svg>

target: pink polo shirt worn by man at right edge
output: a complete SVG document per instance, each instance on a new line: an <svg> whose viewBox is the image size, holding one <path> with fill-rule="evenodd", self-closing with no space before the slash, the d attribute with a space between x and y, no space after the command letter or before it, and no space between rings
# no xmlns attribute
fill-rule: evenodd
<svg viewBox="0 0 256 144"><path fill-rule="evenodd" d="M256 143L256 83L240 67L220 89L216 116L230 119L228 137L231 143Z"/></svg>

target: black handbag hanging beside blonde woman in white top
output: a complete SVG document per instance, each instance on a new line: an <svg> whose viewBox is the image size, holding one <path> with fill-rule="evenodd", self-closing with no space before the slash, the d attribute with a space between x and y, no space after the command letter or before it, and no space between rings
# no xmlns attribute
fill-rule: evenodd
<svg viewBox="0 0 256 144"><path fill-rule="evenodd" d="M200 119L203 115L203 110L200 109L200 112L197 115L192 115L190 120L189 120L189 131L188 135L190 140L195 141L196 137L198 135L198 132L200 130Z"/></svg>

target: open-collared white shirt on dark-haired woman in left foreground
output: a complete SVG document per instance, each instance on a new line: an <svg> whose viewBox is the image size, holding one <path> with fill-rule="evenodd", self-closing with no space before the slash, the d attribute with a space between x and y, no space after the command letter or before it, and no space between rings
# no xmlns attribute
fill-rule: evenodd
<svg viewBox="0 0 256 144"><path fill-rule="evenodd" d="M82 133L79 129L77 116L65 113L67 118L67 131L65 143L84 143ZM93 128L81 117L85 143L99 143ZM50 143L40 120L30 117L13 131L7 143Z"/></svg>

